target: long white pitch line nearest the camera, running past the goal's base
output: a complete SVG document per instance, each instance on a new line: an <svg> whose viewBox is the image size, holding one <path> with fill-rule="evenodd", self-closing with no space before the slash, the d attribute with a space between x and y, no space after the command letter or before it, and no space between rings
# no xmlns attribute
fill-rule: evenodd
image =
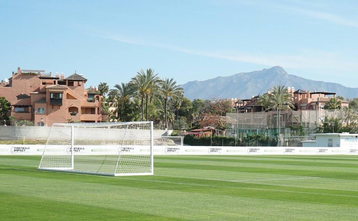
<svg viewBox="0 0 358 221"><path fill-rule="evenodd" d="M138 180L138 181L148 181L148 182L157 182L157 183L171 183L171 184L181 184L181 185L190 185L190 186L221 187L221 188L232 188L232 189L252 189L252 190L262 190L262 191L289 192L289 193L306 193L306 194L315 194L315 195L343 196L343 197L354 197L354 198L358 198L358 196L347 196L347 195L329 194L329 193L311 193L311 192L301 192L301 191L288 191L288 190L279 190L279 189L259 189L259 188L249 188L249 187L228 187L228 186L215 186L215 185L196 184L196 183L177 183L177 182L158 181L158 180L151 180L151 179L136 179L136 178L127 178L127 177L115 177L115 176L112 177L112 176L101 176L101 175L95 175L95 174L68 173L68 172L45 171L45 170L36 170L36 169L18 169L18 168L8 168L8 167L0 167L0 168L3 168L3 169L16 169L16 170L36 171L36 172L44 172L44 173L63 173L63 174L68 174L68 175L95 176L95 177L107 177L107 178L116 178L116 179L131 179L131 180Z"/></svg>

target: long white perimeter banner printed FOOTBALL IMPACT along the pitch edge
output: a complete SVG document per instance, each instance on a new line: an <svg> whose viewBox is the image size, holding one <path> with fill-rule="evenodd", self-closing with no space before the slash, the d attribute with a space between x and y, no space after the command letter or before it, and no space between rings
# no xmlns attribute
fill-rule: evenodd
<svg viewBox="0 0 358 221"><path fill-rule="evenodd" d="M71 155L68 145L0 145L0 155ZM73 147L75 155L149 155L150 146L86 145ZM358 155L358 147L277 147L277 146L154 146L154 155Z"/></svg>

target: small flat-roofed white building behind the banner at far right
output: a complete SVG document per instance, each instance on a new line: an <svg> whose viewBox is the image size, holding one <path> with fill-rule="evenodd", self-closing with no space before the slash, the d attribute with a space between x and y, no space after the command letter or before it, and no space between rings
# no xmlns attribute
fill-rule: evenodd
<svg viewBox="0 0 358 221"><path fill-rule="evenodd" d="M327 133L311 134L316 140L301 141L303 147L345 147L358 148L358 134Z"/></svg>

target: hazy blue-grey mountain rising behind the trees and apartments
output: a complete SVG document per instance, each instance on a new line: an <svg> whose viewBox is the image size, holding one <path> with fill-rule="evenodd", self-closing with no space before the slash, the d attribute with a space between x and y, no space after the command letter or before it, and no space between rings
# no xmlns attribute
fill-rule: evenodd
<svg viewBox="0 0 358 221"><path fill-rule="evenodd" d="M338 83L313 81L289 75L280 66L275 66L262 71L238 73L227 77L216 77L205 81L189 81L182 85L184 95L193 100L196 98L251 98L258 94L266 93L274 85L294 87L295 90L309 90L317 92L335 92L344 98L358 97L358 88L345 87Z"/></svg>

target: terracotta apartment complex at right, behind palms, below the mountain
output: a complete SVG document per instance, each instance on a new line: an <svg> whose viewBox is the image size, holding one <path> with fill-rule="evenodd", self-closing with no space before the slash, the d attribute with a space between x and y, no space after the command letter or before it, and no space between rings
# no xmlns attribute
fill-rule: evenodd
<svg viewBox="0 0 358 221"><path fill-rule="evenodd" d="M326 103L333 97L336 97L336 93L333 92L310 92L304 90L296 90L294 87L287 87L287 92L291 94L292 100L295 104L295 110L316 110L323 109ZM270 93L270 91L267 91ZM250 99L241 99L234 102L234 108L240 112L260 112L263 107L258 104L260 96L252 96ZM338 99L341 102L342 107L348 107L349 102Z"/></svg>

